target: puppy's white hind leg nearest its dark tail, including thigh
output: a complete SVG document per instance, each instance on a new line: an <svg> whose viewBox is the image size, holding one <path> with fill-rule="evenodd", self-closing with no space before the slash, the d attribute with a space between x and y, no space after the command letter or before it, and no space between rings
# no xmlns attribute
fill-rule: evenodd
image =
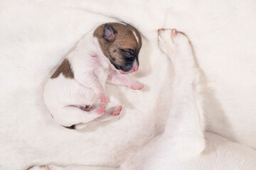
<svg viewBox="0 0 256 170"><path fill-rule="evenodd" d="M88 123L100 117L105 113L105 105L100 104L100 106L97 106L97 108L94 108L92 111L83 111L76 106L66 106L59 112L62 114L57 114L54 116L54 119L57 120L60 125L70 127L79 123Z"/></svg>

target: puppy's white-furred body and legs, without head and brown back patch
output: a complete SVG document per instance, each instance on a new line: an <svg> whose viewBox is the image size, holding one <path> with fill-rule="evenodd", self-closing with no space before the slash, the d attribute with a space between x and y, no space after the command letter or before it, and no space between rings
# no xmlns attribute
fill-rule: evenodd
<svg viewBox="0 0 256 170"><path fill-rule="evenodd" d="M110 120L111 117L119 114L121 106L114 109L117 113L114 111L105 113L105 105L98 104L98 99L105 103L109 102L105 94L106 81L136 90L138 87L142 88L142 84L119 74L110 60L105 57L97 38L92 34L93 31L87 33L78 42L77 47L68 54L67 60L75 78L66 78L61 73L57 78L49 79L45 87L46 106L53 118L65 127L75 125L75 129L81 129L92 120L97 119L98 122ZM90 106L91 111L80 109L85 106Z"/></svg>

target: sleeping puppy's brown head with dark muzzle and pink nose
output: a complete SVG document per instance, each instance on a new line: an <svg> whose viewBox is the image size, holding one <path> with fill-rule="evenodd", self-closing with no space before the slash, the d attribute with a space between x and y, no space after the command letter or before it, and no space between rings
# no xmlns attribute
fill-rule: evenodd
<svg viewBox="0 0 256 170"><path fill-rule="evenodd" d="M136 28L129 24L105 23L93 35L98 39L103 54L121 74L139 69L142 37Z"/></svg>

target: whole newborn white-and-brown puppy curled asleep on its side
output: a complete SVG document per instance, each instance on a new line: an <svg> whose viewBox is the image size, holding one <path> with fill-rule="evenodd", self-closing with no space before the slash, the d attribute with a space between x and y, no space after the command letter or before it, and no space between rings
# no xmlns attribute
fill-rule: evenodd
<svg viewBox="0 0 256 170"><path fill-rule="evenodd" d="M142 89L123 75L137 72L141 47L139 31L125 23L105 23L87 33L46 84L44 101L53 118L65 128L80 129L96 118L119 115L122 106L105 112L104 103L110 102L105 82ZM104 103L97 105L97 99Z"/></svg>

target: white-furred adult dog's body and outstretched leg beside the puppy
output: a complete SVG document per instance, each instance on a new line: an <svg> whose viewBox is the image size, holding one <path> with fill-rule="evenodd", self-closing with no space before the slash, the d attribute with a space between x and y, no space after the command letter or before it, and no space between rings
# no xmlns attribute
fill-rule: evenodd
<svg viewBox="0 0 256 170"><path fill-rule="evenodd" d="M253 149L210 132L203 134L201 86L198 84L200 74L188 38L181 33L171 38L171 30L164 30L159 35L159 45L167 57L171 58L175 73L173 89L170 90L172 107L166 128L162 135L139 149L120 169L254 169L256 152ZM51 170L89 168L50 165ZM107 169L100 166L91 168Z"/></svg>

